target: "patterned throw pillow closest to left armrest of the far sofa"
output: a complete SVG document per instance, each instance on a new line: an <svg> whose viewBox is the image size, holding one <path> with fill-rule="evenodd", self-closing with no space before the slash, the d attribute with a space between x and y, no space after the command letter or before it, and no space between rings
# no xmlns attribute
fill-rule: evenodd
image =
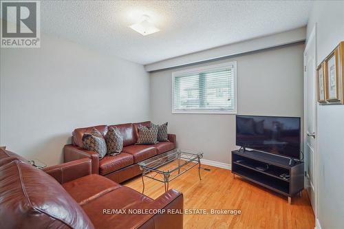
<svg viewBox="0 0 344 229"><path fill-rule="evenodd" d="M90 133L84 133L83 146L88 151L95 151L99 155L99 159L102 159L107 154L107 145L102 134L96 129L92 129Z"/></svg>

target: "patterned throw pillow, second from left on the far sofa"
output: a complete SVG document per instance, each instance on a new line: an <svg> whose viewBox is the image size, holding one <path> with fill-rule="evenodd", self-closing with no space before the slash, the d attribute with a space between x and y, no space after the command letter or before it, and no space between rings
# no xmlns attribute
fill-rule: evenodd
<svg viewBox="0 0 344 229"><path fill-rule="evenodd" d="M105 142L107 143L107 154L114 156L120 154L123 149L123 137L117 127L110 127L105 135Z"/></svg>

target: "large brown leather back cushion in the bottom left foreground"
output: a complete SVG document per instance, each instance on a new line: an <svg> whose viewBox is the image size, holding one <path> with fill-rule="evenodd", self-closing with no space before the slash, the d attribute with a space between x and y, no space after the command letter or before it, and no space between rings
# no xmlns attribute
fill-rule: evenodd
<svg viewBox="0 0 344 229"><path fill-rule="evenodd" d="M94 228L58 182L14 160L0 167L0 228Z"/></svg>

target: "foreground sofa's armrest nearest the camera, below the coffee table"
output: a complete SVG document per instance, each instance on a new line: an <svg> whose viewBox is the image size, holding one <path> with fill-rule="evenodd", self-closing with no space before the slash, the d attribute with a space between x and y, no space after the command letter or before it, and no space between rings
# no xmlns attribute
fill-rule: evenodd
<svg viewBox="0 0 344 229"><path fill-rule="evenodd" d="M139 228L164 228L164 229L182 229L184 197L177 190L169 190L155 199L150 209L164 209L163 214L146 215L146 219Z"/></svg>

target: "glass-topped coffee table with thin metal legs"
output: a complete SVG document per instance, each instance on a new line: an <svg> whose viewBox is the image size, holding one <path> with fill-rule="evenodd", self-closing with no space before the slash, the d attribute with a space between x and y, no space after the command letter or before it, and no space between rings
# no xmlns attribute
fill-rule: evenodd
<svg viewBox="0 0 344 229"><path fill-rule="evenodd" d="M196 165L198 165L198 175L201 180L200 169L202 157L203 153L191 153L180 149L173 149L172 151L139 162L138 165L142 170L142 193L144 192L143 177L149 177L164 183L166 192L169 190L169 182L171 180L179 177Z"/></svg>

